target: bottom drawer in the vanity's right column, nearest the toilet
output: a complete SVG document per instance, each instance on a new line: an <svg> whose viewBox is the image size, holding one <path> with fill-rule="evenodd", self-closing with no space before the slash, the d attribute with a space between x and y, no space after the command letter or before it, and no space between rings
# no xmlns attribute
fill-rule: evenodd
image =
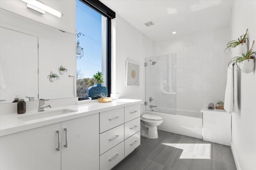
<svg viewBox="0 0 256 170"><path fill-rule="evenodd" d="M124 141L124 156L128 156L134 149L140 145L140 131Z"/></svg>

